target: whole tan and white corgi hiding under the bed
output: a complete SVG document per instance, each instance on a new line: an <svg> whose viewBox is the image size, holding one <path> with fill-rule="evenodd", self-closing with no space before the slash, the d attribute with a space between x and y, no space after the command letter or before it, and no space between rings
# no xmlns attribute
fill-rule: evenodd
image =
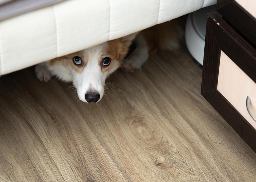
<svg viewBox="0 0 256 182"><path fill-rule="evenodd" d="M36 76L45 82L52 76L65 82L73 82L81 101L99 102L103 97L106 78L116 69L121 67L125 72L134 72L158 49L179 47L183 29L176 21L165 22L139 33L40 63L35 67ZM133 40L136 48L126 56Z"/></svg>

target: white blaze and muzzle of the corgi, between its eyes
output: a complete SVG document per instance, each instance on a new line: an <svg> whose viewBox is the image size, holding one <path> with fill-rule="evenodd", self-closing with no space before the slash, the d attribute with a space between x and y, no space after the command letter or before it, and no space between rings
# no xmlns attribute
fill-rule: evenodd
<svg viewBox="0 0 256 182"><path fill-rule="evenodd" d="M103 43L84 50L84 54L88 57L87 65L81 73L75 73L74 84L77 87L79 99L84 102L86 102L84 95L90 91L98 92L100 99L103 96L107 73L102 72L100 61L106 45L107 43Z"/></svg>

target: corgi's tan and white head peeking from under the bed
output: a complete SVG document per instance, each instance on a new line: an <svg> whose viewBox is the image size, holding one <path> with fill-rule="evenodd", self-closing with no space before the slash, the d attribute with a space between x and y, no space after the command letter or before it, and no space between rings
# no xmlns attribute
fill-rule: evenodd
<svg viewBox="0 0 256 182"><path fill-rule="evenodd" d="M50 60L52 75L73 82L83 102L96 103L104 93L105 79L121 66L137 33Z"/></svg>

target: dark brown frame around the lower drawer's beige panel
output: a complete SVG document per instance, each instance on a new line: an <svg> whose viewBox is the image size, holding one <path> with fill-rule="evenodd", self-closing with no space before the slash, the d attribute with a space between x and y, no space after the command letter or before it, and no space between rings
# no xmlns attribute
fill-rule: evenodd
<svg viewBox="0 0 256 182"><path fill-rule="evenodd" d="M210 13L207 16L201 94L256 152L255 128L217 89L221 50L256 82L256 50L219 15Z"/></svg>

